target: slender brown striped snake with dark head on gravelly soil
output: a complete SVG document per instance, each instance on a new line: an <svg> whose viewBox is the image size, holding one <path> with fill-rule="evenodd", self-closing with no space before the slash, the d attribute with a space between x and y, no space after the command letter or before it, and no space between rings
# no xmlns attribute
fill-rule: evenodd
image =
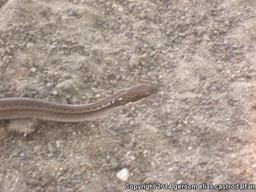
<svg viewBox="0 0 256 192"><path fill-rule="evenodd" d="M81 122L134 106L158 91L152 84L138 84L89 104L61 104L34 98L0 99L0 120L35 118L57 122Z"/></svg>

